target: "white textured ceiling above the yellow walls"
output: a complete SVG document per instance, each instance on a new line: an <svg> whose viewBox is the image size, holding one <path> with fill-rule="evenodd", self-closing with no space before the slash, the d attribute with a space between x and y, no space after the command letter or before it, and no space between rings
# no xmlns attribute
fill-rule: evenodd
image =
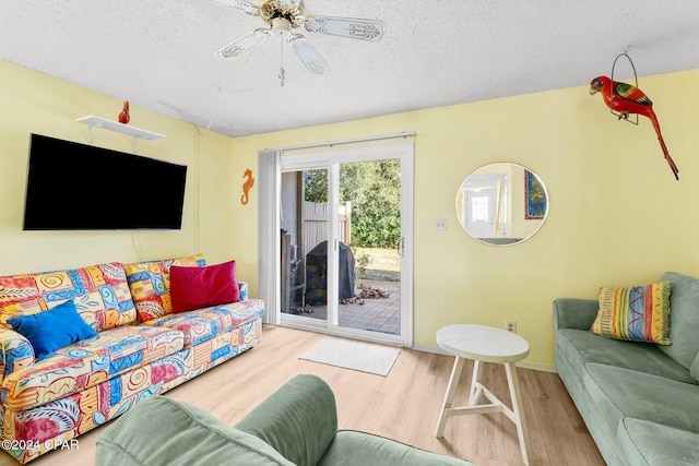
<svg viewBox="0 0 699 466"><path fill-rule="evenodd" d="M232 136L584 85L623 51L640 76L699 68L697 0L305 0L384 23L377 44L307 34L323 77L274 38L216 58L264 23L211 0L2 3L0 59Z"/></svg>

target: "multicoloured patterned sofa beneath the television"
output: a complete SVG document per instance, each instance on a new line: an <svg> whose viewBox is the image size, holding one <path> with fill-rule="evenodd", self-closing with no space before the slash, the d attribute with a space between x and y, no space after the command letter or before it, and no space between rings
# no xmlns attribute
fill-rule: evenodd
<svg viewBox="0 0 699 466"><path fill-rule="evenodd" d="M235 283L235 263L240 300L176 313L171 266L216 267L200 254L0 277L0 432L12 457L60 447L260 340L264 303ZM19 321L73 304L92 336L37 354L19 333Z"/></svg>

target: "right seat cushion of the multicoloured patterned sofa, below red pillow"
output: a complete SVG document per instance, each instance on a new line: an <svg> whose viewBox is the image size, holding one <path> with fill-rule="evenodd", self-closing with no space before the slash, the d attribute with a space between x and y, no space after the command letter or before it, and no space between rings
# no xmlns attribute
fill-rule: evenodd
<svg viewBox="0 0 699 466"><path fill-rule="evenodd" d="M185 348L199 345L216 335L229 332L264 314L264 301L249 299L198 309L196 311L168 314L151 319L143 325L177 330L185 335Z"/></svg>

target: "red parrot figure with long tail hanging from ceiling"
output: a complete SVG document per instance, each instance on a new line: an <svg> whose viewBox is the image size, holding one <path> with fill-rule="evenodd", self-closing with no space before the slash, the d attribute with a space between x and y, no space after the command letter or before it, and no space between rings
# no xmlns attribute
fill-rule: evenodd
<svg viewBox="0 0 699 466"><path fill-rule="evenodd" d="M630 113L636 113L648 117L651 120L655 129L655 134L657 134L660 146L663 150L663 154L665 154L665 160L667 160L670 168L673 170L675 179L679 180L679 176L677 176L679 170L670 156L665 141L663 141L663 135L660 132L660 123L653 111L653 103L643 91L630 84L612 81L607 76L597 76L590 83L590 95L595 95L599 92L602 93L602 97L607 107L619 113L619 119L628 119Z"/></svg>

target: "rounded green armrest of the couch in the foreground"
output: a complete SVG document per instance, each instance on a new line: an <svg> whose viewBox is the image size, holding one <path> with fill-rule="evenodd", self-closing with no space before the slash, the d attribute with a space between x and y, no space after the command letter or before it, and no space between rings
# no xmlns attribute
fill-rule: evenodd
<svg viewBox="0 0 699 466"><path fill-rule="evenodd" d="M294 464L315 465L337 432L335 396L322 379L296 375L235 427L264 440Z"/></svg>

